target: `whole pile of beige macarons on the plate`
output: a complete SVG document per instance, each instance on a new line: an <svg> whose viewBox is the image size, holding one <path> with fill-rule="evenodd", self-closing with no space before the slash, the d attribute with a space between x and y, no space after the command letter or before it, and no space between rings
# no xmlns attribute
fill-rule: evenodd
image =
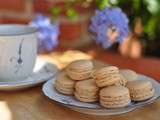
<svg viewBox="0 0 160 120"><path fill-rule="evenodd" d="M155 92L150 81L138 80L138 74L132 70L115 66L96 69L91 60L70 63L54 85L62 94L74 95L81 102L99 102L105 108L147 100Z"/></svg>

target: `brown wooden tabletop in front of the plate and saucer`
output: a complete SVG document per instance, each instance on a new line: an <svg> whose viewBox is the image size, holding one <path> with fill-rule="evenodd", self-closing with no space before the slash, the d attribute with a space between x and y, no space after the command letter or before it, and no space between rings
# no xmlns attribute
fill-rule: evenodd
<svg viewBox="0 0 160 120"><path fill-rule="evenodd" d="M114 58L114 57L113 57ZM111 63L113 61L108 59ZM106 58L102 58L106 60ZM109 63L110 63L109 62ZM119 63L115 63L121 65ZM132 63L133 64L133 63ZM138 63L135 63L138 64ZM126 67L126 64L120 67ZM157 77L157 76L153 76ZM158 78L158 77L157 77ZM160 101L117 116L81 114L45 97L41 85L14 92L0 92L0 120L159 120Z"/></svg>

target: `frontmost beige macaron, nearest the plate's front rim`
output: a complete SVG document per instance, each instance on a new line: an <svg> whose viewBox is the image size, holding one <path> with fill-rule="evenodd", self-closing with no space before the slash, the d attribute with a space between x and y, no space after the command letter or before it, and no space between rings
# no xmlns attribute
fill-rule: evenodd
<svg viewBox="0 0 160 120"><path fill-rule="evenodd" d="M128 88L124 86L109 86L100 90L100 104L105 108L120 108L130 104Z"/></svg>

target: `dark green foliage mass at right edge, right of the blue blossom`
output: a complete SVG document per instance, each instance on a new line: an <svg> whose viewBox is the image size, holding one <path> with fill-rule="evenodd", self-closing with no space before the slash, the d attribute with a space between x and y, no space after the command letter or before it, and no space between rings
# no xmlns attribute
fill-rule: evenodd
<svg viewBox="0 0 160 120"><path fill-rule="evenodd" d="M139 36L146 55L160 56L160 0L115 0L128 15L133 30L136 19L142 21L143 33Z"/></svg>

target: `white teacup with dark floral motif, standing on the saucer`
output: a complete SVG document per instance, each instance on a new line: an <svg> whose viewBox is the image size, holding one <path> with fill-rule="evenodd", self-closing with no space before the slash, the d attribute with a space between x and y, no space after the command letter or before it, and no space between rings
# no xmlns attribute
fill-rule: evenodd
<svg viewBox="0 0 160 120"><path fill-rule="evenodd" d="M0 80L27 78L37 56L37 30L27 25L0 25Z"/></svg>

